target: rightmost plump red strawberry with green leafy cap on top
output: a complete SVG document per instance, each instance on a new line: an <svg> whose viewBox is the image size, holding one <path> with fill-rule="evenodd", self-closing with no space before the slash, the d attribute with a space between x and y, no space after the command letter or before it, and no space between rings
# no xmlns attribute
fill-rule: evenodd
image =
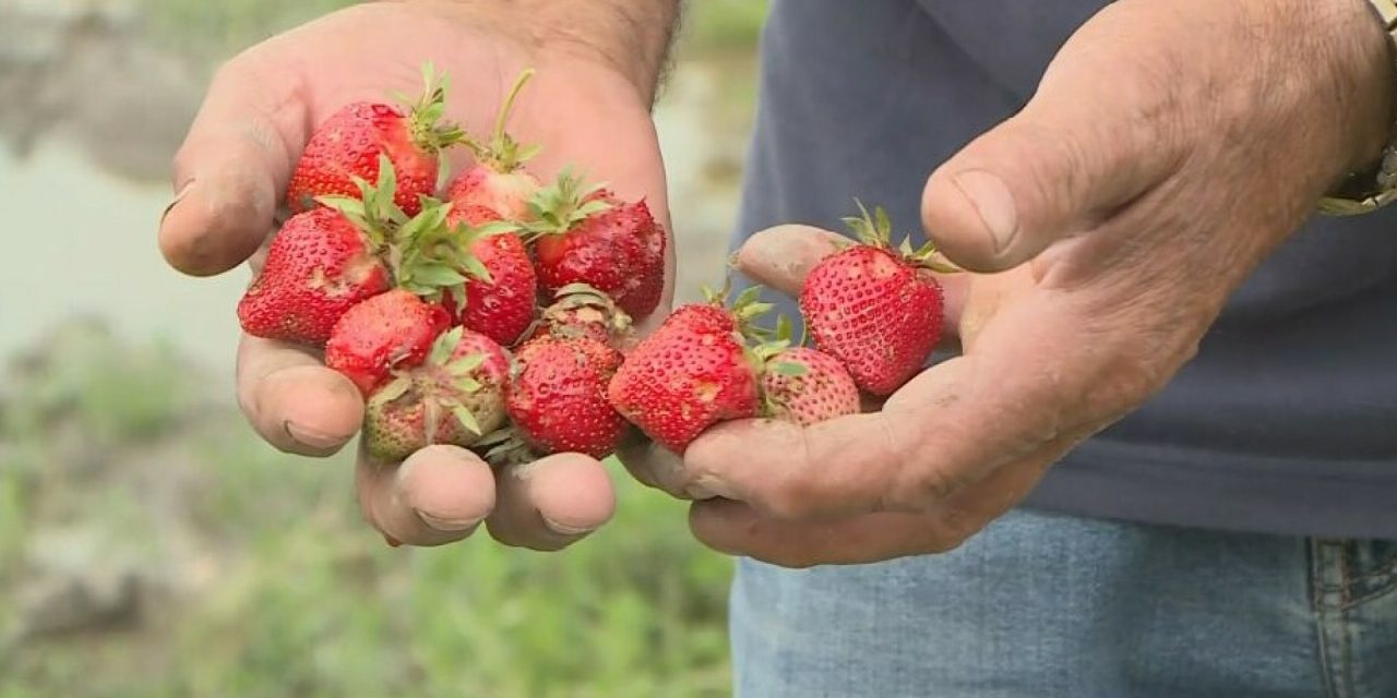
<svg viewBox="0 0 1397 698"><path fill-rule="evenodd" d="M820 261L800 289L800 313L814 345L838 359L865 391L886 396L922 369L940 342L942 286L932 271L954 267L928 243L891 246L891 223L879 208L845 219L862 244Z"/></svg>

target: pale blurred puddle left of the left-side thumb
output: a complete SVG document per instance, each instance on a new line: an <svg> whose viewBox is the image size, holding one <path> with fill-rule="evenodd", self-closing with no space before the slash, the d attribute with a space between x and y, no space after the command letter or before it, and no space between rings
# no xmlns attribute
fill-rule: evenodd
<svg viewBox="0 0 1397 698"><path fill-rule="evenodd" d="M0 356L84 314L231 369L247 272L191 279L170 269L155 246L168 202L168 187L110 176L61 141L24 161L0 149Z"/></svg>

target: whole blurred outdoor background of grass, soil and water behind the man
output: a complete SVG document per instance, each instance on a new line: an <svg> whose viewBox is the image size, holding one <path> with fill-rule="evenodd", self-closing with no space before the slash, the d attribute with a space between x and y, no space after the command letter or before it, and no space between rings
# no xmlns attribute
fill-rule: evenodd
<svg viewBox="0 0 1397 698"><path fill-rule="evenodd" d="M390 550L351 462L232 403L246 272L155 225L212 68L348 0L0 0L0 698L726 695L731 564L615 469L563 554ZM700 0L658 109L679 288L721 275L766 3ZM615 465L615 463L613 463Z"/></svg>

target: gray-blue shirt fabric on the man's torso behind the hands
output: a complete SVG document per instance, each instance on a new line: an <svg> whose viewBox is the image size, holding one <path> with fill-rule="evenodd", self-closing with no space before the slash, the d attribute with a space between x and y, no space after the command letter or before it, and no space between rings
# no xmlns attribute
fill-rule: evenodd
<svg viewBox="0 0 1397 698"><path fill-rule="evenodd" d="M841 229L854 197L919 232L930 170L1014 113L1104 4L775 0L733 244L782 222ZM780 311L798 315L789 300ZM1028 504L1397 539L1397 209L1310 221L1164 394L1071 452Z"/></svg>

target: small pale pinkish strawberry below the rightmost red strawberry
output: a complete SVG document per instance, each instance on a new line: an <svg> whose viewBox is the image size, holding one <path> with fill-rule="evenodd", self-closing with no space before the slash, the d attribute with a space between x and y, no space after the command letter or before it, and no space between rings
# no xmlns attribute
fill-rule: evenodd
<svg viewBox="0 0 1397 698"><path fill-rule="evenodd" d="M859 412L859 387L833 356L796 346L767 360L761 376L767 412L810 426Z"/></svg>

